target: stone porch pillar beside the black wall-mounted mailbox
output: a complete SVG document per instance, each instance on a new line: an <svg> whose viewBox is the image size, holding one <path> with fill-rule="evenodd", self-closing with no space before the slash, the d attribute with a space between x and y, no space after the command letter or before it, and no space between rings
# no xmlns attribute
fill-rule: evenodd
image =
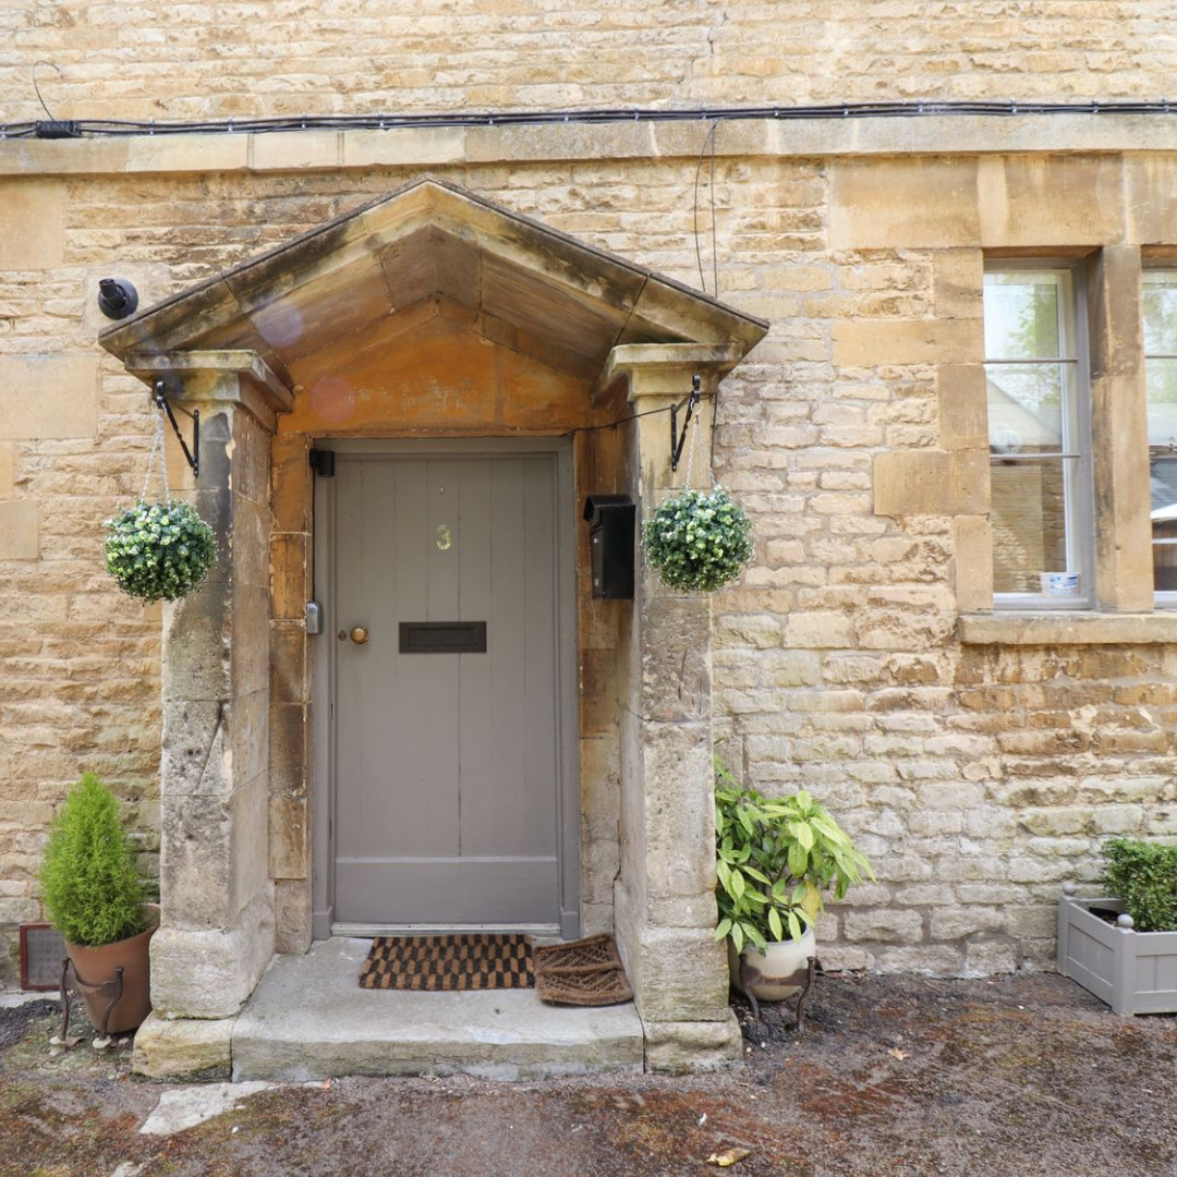
<svg viewBox="0 0 1177 1177"><path fill-rule="evenodd" d="M605 383L624 378L634 413L683 399L703 378L693 485L711 479L711 414L734 350L639 345L613 350ZM681 427L685 410L678 414ZM634 423L633 493L639 519L686 485L694 437L671 472L669 413ZM617 938L645 1028L651 1070L701 1070L739 1057L727 1005L726 949L714 939L711 599L667 590L641 570L621 636L621 870Z"/></svg>

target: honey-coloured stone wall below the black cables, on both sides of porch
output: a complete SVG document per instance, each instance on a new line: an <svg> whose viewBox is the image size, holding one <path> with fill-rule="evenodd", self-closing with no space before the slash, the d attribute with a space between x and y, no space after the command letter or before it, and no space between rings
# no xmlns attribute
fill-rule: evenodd
<svg viewBox="0 0 1177 1177"><path fill-rule="evenodd" d="M1057 884L1093 877L1104 834L1177 834L1171 618L970 620L991 600L984 253L1103 248L1093 280L1131 321L1139 247L1177 245L1177 142L1156 120L1103 117L838 122L807 127L804 152L780 134L717 135L713 237L697 126L494 129L444 149L412 135L0 144L0 924L39 915L45 829L82 770L139 806L146 847L158 825L159 614L120 597L100 559L102 519L142 485L153 417L99 357L98 278L131 277L155 301L425 166L694 286L701 254L711 288L714 250L719 295L772 320L719 398L716 466L756 519L757 557L712 603L712 698L744 779L813 787L876 863L878 884L826 919L829 959L1045 964ZM1043 137L1073 151L1035 149ZM1148 153L1121 154L1117 137ZM917 140L926 154L904 155ZM348 165L364 151L390 161ZM1105 334L1111 420L1139 344ZM1112 514L1131 514L1112 500L1131 498L1132 452L1100 474ZM305 544L300 510L275 518ZM1112 613L1148 607L1132 534L1100 552ZM275 616L275 674L293 676L275 703L301 740L304 670L280 661L294 617ZM594 624L599 673L614 639ZM278 878L286 849L272 845ZM305 902L301 879L279 886L280 909ZM591 902L596 926L607 897Z"/></svg>

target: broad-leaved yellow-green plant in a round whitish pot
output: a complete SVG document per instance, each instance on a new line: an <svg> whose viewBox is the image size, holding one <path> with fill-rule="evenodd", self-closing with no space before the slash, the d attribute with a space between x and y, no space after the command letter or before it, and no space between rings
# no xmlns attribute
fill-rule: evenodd
<svg viewBox="0 0 1177 1177"><path fill-rule="evenodd" d="M863 876L875 878L866 857L809 792L767 798L723 765L716 769L716 939L729 942L733 985L762 1000L796 992L796 984L779 980L814 955L823 892L842 899Z"/></svg>

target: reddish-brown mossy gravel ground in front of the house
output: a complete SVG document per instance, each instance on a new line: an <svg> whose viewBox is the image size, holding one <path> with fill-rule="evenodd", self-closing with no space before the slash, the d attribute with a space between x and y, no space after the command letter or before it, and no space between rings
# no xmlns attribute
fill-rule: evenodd
<svg viewBox="0 0 1177 1177"><path fill-rule="evenodd" d="M0 1009L0 1175L663 1177L729 1149L736 1177L1177 1173L1177 1017L1053 976L825 976L800 1035L785 1006L737 1012L747 1060L722 1075L337 1079L147 1136L179 1085L125 1046L51 1057L53 1006Z"/></svg>

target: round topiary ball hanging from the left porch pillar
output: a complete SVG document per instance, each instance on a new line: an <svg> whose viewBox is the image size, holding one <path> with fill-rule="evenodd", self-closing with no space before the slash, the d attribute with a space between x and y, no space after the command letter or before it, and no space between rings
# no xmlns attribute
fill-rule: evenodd
<svg viewBox="0 0 1177 1177"><path fill-rule="evenodd" d="M106 520L106 571L141 600L179 600L217 563L212 527L188 503L137 503Z"/></svg>

